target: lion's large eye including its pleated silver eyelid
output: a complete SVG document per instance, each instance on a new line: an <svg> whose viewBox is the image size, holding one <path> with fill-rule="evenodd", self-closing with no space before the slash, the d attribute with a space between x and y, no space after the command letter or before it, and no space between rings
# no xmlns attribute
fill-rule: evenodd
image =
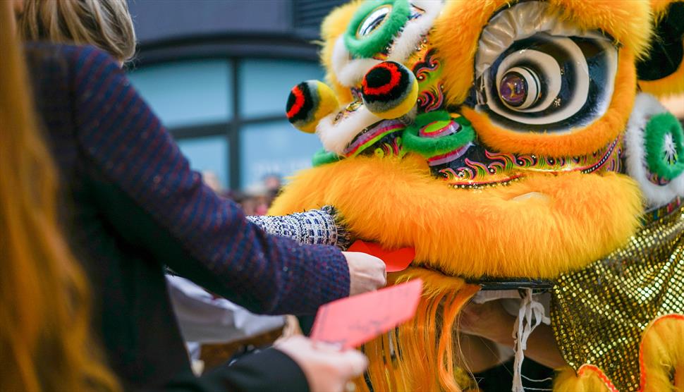
<svg viewBox="0 0 684 392"><path fill-rule="evenodd" d="M581 30L544 1L520 2L503 8L482 30L475 57L477 109L509 130L582 127L608 109L617 63L610 37Z"/></svg>

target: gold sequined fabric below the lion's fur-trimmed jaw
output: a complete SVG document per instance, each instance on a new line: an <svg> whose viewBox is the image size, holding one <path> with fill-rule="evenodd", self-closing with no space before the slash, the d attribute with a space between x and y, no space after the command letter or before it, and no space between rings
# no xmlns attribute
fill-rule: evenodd
<svg viewBox="0 0 684 392"><path fill-rule="evenodd" d="M551 326L568 365L599 367L618 391L640 388L639 345L649 322L684 314L684 207L659 217L628 245L558 278Z"/></svg>

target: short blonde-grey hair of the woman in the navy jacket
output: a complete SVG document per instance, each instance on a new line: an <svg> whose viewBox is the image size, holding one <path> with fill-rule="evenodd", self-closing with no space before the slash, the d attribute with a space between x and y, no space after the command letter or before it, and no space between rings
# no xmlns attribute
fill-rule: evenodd
<svg viewBox="0 0 684 392"><path fill-rule="evenodd" d="M126 0L23 0L19 31L27 41L93 45L126 62L135 30Z"/></svg>

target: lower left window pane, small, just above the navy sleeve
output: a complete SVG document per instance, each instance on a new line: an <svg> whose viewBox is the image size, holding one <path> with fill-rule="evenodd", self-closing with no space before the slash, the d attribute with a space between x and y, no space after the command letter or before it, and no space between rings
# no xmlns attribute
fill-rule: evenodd
<svg viewBox="0 0 684 392"><path fill-rule="evenodd" d="M228 140L224 135L178 140L178 147L196 171L211 171L228 188Z"/></svg>

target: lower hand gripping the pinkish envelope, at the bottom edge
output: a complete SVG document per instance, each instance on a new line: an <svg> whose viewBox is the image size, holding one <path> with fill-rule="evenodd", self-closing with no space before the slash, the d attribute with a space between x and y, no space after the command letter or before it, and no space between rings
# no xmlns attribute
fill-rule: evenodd
<svg viewBox="0 0 684 392"><path fill-rule="evenodd" d="M350 379L360 376L368 360L357 350L314 342L304 336L277 341L274 348L291 357L304 372L311 392L341 392Z"/></svg>

